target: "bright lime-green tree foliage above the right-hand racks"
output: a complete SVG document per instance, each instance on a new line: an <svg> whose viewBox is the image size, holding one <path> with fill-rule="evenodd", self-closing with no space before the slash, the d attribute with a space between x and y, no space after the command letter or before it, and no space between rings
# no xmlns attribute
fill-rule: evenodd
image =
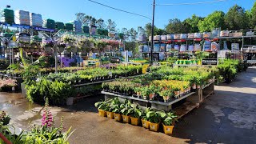
<svg viewBox="0 0 256 144"><path fill-rule="evenodd" d="M212 14L198 22L198 29L201 32L211 31L218 27L221 27L222 30L224 30L226 28L224 17L225 13L223 11L214 11Z"/></svg>

